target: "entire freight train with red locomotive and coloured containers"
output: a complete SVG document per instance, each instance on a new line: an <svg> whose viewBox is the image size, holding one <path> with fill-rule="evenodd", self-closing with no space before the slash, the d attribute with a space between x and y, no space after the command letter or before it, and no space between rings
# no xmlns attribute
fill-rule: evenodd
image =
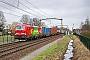
<svg viewBox="0 0 90 60"><path fill-rule="evenodd" d="M57 28L45 28L45 27L37 27L30 26L29 24L17 24L15 27L15 39L19 41L27 41L30 39L37 39L51 35L57 35L61 33L61 30L57 30Z"/></svg>

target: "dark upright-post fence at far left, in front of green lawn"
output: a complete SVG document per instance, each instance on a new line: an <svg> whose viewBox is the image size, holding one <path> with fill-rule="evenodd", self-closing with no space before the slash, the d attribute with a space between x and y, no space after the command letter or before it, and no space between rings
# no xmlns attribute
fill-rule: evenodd
<svg viewBox="0 0 90 60"><path fill-rule="evenodd" d="M0 36L0 45L1 44L6 44L6 43L11 43L14 42L14 36L10 36L10 35L5 35L5 36Z"/></svg>

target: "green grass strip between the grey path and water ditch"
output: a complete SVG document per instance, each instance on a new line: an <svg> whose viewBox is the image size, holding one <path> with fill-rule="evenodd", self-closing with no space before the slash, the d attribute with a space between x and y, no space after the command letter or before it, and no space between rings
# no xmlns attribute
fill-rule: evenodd
<svg viewBox="0 0 90 60"><path fill-rule="evenodd" d="M49 60L53 60L54 56L57 56L59 54L59 51L62 53L65 53L66 47L68 42L70 41L70 37L73 35L67 35L64 37L64 39L51 47L49 47L47 50L45 50L42 54L35 57L34 60L45 60L45 57L47 57Z"/></svg>

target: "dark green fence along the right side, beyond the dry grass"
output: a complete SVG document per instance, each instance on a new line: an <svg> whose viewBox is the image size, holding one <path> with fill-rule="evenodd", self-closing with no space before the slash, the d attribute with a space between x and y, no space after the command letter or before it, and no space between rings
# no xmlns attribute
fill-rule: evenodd
<svg viewBox="0 0 90 60"><path fill-rule="evenodd" d="M87 38L83 35L73 33L74 35L78 36L80 38L80 41L87 47L87 49L90 50L90 38Z"/></svg>

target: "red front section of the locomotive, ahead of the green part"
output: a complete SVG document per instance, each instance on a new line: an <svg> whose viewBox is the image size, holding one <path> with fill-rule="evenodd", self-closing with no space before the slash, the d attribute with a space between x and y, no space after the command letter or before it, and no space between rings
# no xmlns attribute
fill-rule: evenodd
<svg viewBox="0 0 90 60"><path fill-rule="evenodd" d="M28 24L17 24L15 28L15 39L27 40L32 38L34 28Z"/></svg>

